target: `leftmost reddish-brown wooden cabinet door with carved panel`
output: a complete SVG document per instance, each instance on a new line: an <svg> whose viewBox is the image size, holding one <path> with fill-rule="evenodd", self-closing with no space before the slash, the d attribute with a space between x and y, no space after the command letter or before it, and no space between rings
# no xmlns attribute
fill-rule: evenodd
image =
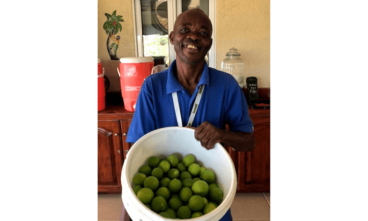
<svg viewBox="0 0 368 221"><path fill-rule="evenodd" d="M122 148L119 120L97 121L97 191L121 193Z"/></svg>

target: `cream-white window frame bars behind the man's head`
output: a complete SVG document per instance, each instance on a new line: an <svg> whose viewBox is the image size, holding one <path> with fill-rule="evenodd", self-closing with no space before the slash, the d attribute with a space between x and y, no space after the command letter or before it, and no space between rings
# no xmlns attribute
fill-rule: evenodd
<svg viewBox="0 0 368 221"><path fill-rule="evenodd" d="M134 43L135 43L135 56L144 56L143 55L143 33L142 33L142 13L141 13L141 4L140 0L132 0L133 5L133 17L135 18L134 25ZM170 10L171 9L171 10ZM174 22L178 15L182 11L182 0L167 0L167 16L168 16L168 33L173 31ZM216 0L209 0L209 18L212 23L212 46L210 51L208 52L208 66L212 68L216 68L216 54L215 54L215 45L216 45L216 28L215 28L215 18L216 18ZM175 50L174 46L169 43L169 63L175 60Z"/></svg>

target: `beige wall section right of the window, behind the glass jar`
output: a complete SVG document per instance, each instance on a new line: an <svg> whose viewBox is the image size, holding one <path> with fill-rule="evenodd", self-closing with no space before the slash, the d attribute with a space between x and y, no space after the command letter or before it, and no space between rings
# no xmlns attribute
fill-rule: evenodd
<svg viewBox="0 0 368 221"><path fill-rule="evenodd" d="M245 62L245 78L268 87L271 73L270 0L216 0L216 68L231 48Z"/></svg>

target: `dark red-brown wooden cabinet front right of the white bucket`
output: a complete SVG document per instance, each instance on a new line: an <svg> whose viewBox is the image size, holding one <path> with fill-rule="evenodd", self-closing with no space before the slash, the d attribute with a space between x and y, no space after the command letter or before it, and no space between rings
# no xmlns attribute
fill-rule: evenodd
<svg viewBox="0 0 368 221"><path fill-rule="evenodd" d="M270 192L270 117L251 118L256 147L251 152L237 151L237 192Z"/></svg>

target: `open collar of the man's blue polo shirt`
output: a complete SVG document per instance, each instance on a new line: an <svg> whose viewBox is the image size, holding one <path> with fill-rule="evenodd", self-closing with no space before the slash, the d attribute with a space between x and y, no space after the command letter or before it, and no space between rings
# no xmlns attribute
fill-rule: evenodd
<svg viewBox="0 0 368 221"><path fill-rule="evenodd" d="M176 91L182 90L182 85L178 82L178 80L174 76L174 70L176 68L176 60L174 60L167 72L167 83L166 83L166 92L167 94L171 94ZM197 87L201 84L206 84L207 86L210 84L210 76L209 76L209 68L207 62L205 61L205 65L203 68L201 79Z"/></svg>

